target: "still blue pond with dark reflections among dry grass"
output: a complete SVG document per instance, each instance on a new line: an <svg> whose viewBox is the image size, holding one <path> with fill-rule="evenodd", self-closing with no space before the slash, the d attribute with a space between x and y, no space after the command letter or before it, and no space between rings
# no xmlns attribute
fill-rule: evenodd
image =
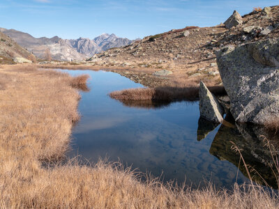
<svg viewBox="0 0 279 209"><path fill-rule="evenodd" d="M233 122L213 127L199 120L198 102L122 104L108 93L143 86L114 72L65 71L70 75L91 76L90 90L80 92L82 118L73 129L68 156L80 155L93 163L100 158L108 158L110 162L120 160L164 182L177 180L181 184L186 180L186 185L202 187L210 181L216 187L231 188L234 183L249 181L243 166L239 167L239 155L231 149L233 141L246 149L246 160L273 183L264 157L259 159L254 155L265 155L259 143L252 139L251 144L249 137L243 138L243 130L250 133L249 128L239 128Z"/></svg>

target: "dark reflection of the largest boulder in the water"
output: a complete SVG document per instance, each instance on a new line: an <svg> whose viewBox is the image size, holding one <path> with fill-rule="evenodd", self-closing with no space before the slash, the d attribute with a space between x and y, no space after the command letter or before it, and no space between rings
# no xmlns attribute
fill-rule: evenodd
<svg viewBox="0 0 279 209"><path fill-rule="evenodd" d="M227 116L226 121L234 123L232 116ZM228 122L227 122L228 123ZM214 138L209 152L215 155L220 160L227 160L232 162L236 167L239 167L240 171L248 177L248 173L243 165L240 163L240 156L238 153L232 150L232 142L241 150L241 155L250 167L250 172L255 174L252 179L260 185L265 185L264 180L271 187L277 188L276 176L271 171L270 164L273 164L271 153L269 148L264 146L266 142L260 137L264 134L266 137L269 136L269 132L264 127L249 124L235 124L232 125L221 125L216 137ZM236 127L236 128L234 128ZM273 167L273 169L275 169ZM262 177L260 177L260 176Z"/></svg>

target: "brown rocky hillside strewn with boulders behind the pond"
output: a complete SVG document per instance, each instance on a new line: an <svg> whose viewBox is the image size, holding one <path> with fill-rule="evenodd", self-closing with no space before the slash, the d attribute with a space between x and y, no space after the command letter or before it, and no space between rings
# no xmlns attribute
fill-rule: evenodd
<svg viewBox="0 0 279 209"><path fill-rule="evenodd" d="M212 77L219 77L216 51L227 45L243 45L278 36L279 6L253 11L243 17L235 12L224 22L218 26L189 26L148 36L126 47L96 54L89 63L107 67L165 69L172 71L169 77L212 80ZM133 78L134 75L134 72L130 75L128 72L125 76ZM137 77L150 86L140 74Z"/></svg>

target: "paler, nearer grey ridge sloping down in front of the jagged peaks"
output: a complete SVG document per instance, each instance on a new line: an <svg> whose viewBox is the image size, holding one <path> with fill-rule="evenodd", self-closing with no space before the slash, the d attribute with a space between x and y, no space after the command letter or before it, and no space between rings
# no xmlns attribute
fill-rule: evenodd
<svg viewBox="0 0 279 209"><path fill-rule="evenodd" d="M40 59L45 59L46 50L50 49L52 59L58 61L81 61L86 59L84 54L80 54L68 43L54 36L53 38L34 38L29 33L23 33L14 29L0 29L1 32L13 38L19 45L32 52Z"/></svg>

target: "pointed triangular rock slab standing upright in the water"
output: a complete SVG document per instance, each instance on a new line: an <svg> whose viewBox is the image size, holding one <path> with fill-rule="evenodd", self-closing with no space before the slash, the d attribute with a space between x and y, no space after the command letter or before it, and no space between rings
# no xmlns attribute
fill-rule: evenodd
<svg viewBox="0 0 279 209"><path fill-rule="evenodd" d="M222 123L224 108L203 82L199 84L200 116L208 121Z"/></svg>

